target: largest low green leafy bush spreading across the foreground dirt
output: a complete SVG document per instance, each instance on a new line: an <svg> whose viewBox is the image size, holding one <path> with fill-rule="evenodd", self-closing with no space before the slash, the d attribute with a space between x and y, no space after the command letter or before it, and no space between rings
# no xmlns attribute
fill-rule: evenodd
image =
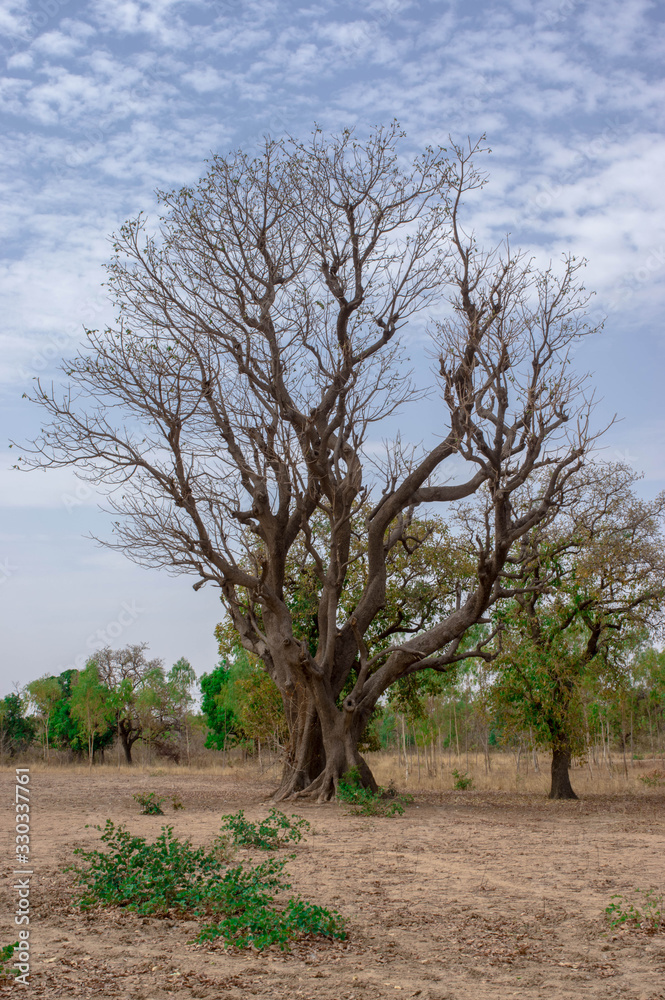
<svg viewBox="0 0 665 1000"><path fill-rule="evenodd" d="M275 905L275 894L290 888L284 877L287 859L258 865L229 865L219 851L178 840L163 826L154 843L111 820L97 826L105 850L74 852L72 865L81 909L124 907L149 916L179 913L209 917L197 940L221 938L227 946L258 951L278 945L283 951L305 935L344 938L339 913L298 897Z"/></svg>

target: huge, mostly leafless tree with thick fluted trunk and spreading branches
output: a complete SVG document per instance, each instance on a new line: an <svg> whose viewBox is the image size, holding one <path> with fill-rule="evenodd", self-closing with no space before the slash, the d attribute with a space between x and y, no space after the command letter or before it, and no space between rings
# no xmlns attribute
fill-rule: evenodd
<svg viewBox="0 0 665 1000"><path fill-rule="evenodd" d="M115 238L116 327L88 332L64 394L40 386L36 397L51 423L29 461L111 486L110 544L131 559L220 588L284 701L277 798L328 798L354 765L374 787L357 747L378 700L467 655L509 549L557 504L589 442L569 358L587 332L580 263L538 271L508 245L483 252L461 221L483 150L427 149L404 167L401 140L394 126L366 141L267 141L257 158L216 157L197 185L161 195L156 235L139 217ZM397 442L370 462L370 429L423 398L400 331L424 309L434 443ZM542 489L516 514L535 475ZM391 551L422 540L410 532L419 512L478 490L492 524L475 539L472 583L436 622L395 631L369 656ZM367 571L347 613L361 513ZM294 636L294 554L317 580L314 650Z"/></svg>

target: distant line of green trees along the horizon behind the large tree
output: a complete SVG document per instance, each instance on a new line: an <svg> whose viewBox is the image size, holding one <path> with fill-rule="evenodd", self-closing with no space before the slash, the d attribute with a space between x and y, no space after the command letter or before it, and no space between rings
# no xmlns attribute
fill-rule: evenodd
<svg viewBox="0 0 665 1000"><path fill-rule="evenodd" d="M0 700L3 759L37 750L44 759L66 752L92 766L115 749L132 763L141 743L150 756L186 764L241 748L280 755L288 743L281 698L258 662L240 647L228 650L198 681L201 711L194 711L197 679L181 658L168 671L146 657L146 644L100 650L84 670L44 676ZM518 675L519 679L519 675ZM584 678L575 692L573 742L578 757L610 753L655 755L665 747L665 652L647 648L608 681ZM432 768L436 751L458 756L492 751L548 749L543 692L516 683L491 664L466 664L454 676L433 675L428 685L404 682L374 712L362 749L422 753ZM344 693L343 693L344 694ZM343 695L342 695L343 696ZM540 701L540 704L538 704ZM420 759L420 756L418 757Z"/></svg>

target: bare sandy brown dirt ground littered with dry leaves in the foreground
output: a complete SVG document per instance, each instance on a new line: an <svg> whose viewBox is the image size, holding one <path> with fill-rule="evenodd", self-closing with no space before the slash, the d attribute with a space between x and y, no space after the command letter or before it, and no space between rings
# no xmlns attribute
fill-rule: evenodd
<svg viewBox="0 0 665 1000"><path fill-rule="evenodd" d="M15 940L14 772L0 772L0 945ZM192 921L81 915L62 869L107 818L156 835L164 822L209 842L220 816L263 817L268 783L242 772L33 768L32 979L0 995L162 1000L665 998L665 934L608 930L613 893L663 891L665 794L645 789L549 802L542 793L416 793L401 818L300 805L312 824L289 864L292 889L341 911L346 942L289 955L194 945ZM176 794L184 812L140 816L135 792ZM239 853L239 859L242 852ZM265 855L263 855L265 858Z"/></svg>

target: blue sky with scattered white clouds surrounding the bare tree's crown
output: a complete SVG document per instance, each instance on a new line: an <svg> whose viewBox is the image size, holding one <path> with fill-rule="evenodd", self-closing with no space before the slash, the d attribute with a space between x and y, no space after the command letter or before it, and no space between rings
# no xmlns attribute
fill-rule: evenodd
<svg viewBox="0 0 665 1000"><path fill-rule="evenodd" d="M623 418L605 455L665 487L662 3L0 0L0 38L0 694L106 643L215 663L214 591L96 547L94 495L13 471L9 440L39 430L32 380L113 318L108 235L268 132L396 118L414 150L486 133L483 240L588 259L607 319L576 363L598 423Z"/></svg>

